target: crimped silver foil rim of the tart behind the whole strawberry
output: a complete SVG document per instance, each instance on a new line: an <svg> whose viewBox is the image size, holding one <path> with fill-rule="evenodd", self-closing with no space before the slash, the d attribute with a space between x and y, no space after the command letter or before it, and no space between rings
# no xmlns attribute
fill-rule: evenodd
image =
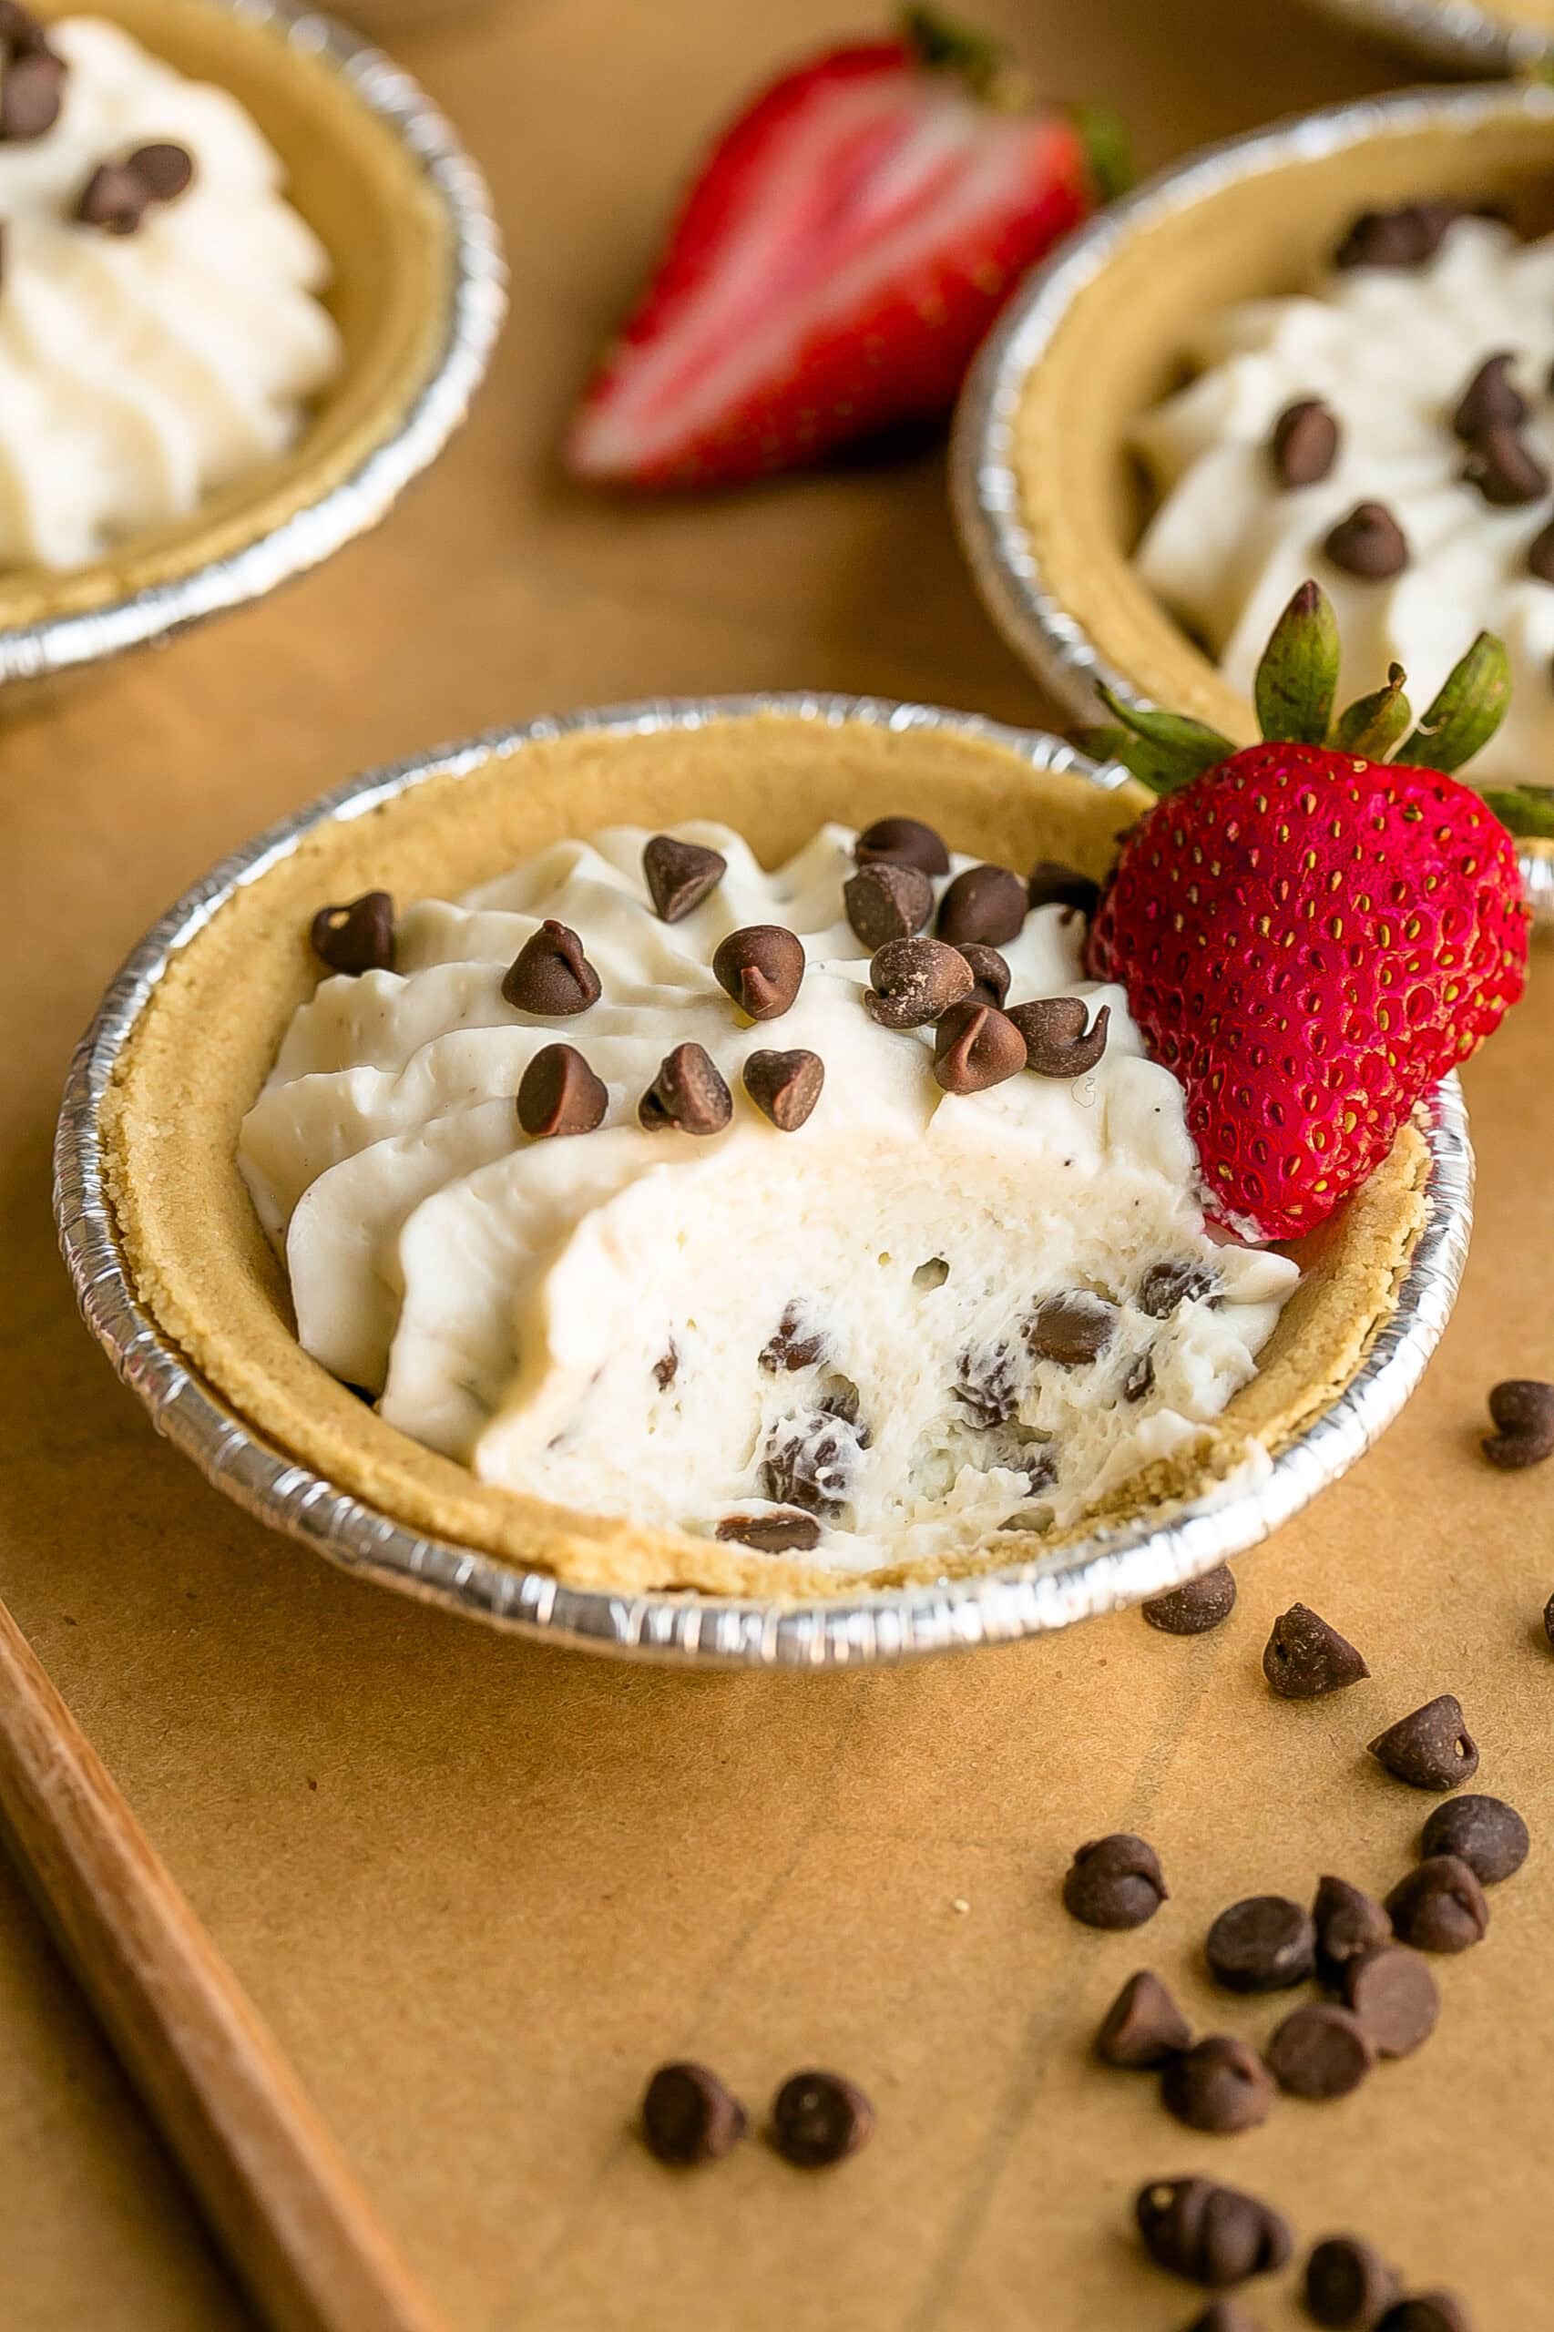
<svg viewBox="0 0 1554 2332"><path fill-rule="evenodd" d="M1386 5L1386 0L1381 0ZM1260 177L1293 161L1339 154L1388 131L1465 126L1503 112L1528 112L1554 128L1554 89L1400 89L1381 98L1290 114L1272 128L1246 131L1204 147L1188 161L1155 173L1134 194L1080 226L1015 292L985 340L961 394L950 448L950 494L961 548L982 604L1020 660L1078 718L1097 716L1097 681L1127 704L1148 700L1111 665L1087 630L1050 590L1024 525L1013 431L1024 382L1052 343L1078 294L1094 282L1134 229L1220 187ZM1524 851L1521 877L1535 916L1554 919L1554 854Z"/></svg>

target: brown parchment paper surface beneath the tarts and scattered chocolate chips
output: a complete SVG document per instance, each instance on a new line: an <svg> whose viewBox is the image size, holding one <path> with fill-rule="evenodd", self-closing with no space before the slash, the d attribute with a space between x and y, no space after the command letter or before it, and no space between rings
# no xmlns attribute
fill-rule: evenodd
<svg viewBox="0 0 1554 2332"><path fill-rule="evenodd" d="M936 455L721 504L621 508L551 445L700 128L845 0L513 0L406 58L490 170L513 319L469 431L371 541L271 604L0 732L7 1003L2 1588L292 2050L457 2332L1169 2332L1185 2285L1134 2187L1206 2169L1316 2236L1363 2227L1479 2327L1554 2325L1554 1469L1475 1453L1505 1374L1554 1374L1554 993L1470 1073L1479 1231L1381 1448L1241 1565L1199 1644L1136 1616L896 1674L684 1679L488 1637L336 1576L156 1444L75 1322L47 1150L68 1049L142 926L350 767L658 690L873 688L1036 718L952 550ZM980 0L1146 161L1393 63L1281 0ZM1295 1597L1374 1679L1262 1688ZM1211 1915L1321 1870L1384 1887L1430 1800L1363 1742L1458 1691L1482 1786L1538 1838L1435 2040L1330 2108L1195 2138L1087 2036L1139 1964L1216 2003ZM1076 1842L1143 1828L1136 1938L1071 1926ZM674 2178L630 2141L695 2052L761 2108L800 2064L880 2106L805 2178L749 2143ZM1300 2320L1288 2278L1269 2332ZM0 1866L0 2323L245 2323L173 2171Z"/></svg>

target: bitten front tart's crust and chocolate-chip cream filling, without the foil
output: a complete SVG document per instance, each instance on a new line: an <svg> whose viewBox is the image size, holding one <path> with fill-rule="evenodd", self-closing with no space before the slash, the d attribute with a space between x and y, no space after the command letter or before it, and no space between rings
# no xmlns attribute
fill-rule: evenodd
<svg viewBox="0 0 1554 2332"><path fill-rule="evenodd" d="M728 709L315 823L119 1056L138 1301L322 1481L572 1586L831 1597L1234 1495L1391 1318L1428 1147L1288 1259L1206 1234L1174 1080L1078 963L1143 805ZM875 865L882 819L950 861Z"/></svg>

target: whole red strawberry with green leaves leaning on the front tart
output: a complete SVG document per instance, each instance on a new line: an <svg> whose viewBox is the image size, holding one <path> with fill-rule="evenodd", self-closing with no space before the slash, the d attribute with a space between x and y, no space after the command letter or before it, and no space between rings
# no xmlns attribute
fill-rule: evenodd
<svg viewBox="0 0 1554 2332"><path fill-rule="evenodd" d="M1185 1087L1211 1210L1258 1238L1311 1231L1517 1000L1510 826L1554 830L1554 795L1449 774L1505 714L1498 639L1419 723L1398 665L1335 721L1337 667L1332 609L1302 583L1258 669L1262 744L1108 690L1115 725L1078 739L1162 795L1122 837L1090 970Z"/></svg>

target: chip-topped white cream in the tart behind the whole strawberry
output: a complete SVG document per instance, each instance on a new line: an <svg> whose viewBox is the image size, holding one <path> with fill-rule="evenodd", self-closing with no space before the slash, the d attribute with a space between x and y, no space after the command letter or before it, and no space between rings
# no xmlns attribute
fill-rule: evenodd
<svg viewBox="0 0 1554 2332"><path fill-rule="evenodd" d="M1472 634L1498 632L1512 700L1475 777L1540 777L1554 756L1554 238L1414 205L1360 219L1337 261L1309 294L1192 331L1197 378L1134 431L1160 494L1139 571L1248 695L1307 576L1337 611L1339 702L1395 660L1421 711Z"/></svg>

